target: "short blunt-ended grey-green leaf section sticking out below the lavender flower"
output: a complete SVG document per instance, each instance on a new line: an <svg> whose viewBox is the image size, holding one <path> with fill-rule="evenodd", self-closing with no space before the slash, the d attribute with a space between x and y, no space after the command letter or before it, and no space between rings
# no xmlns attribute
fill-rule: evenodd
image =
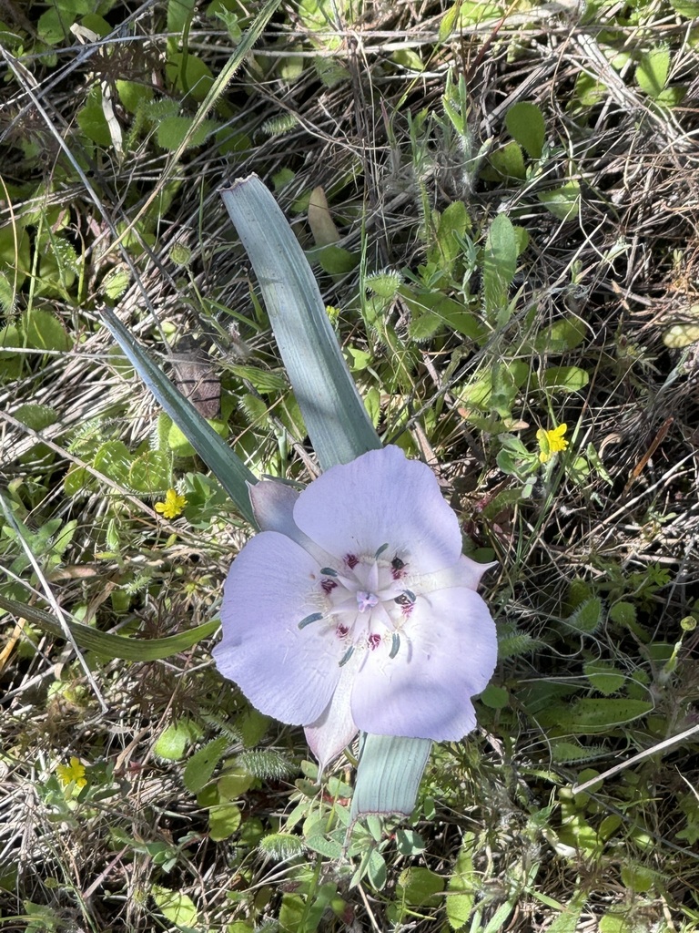
<svg viewBox="0 0 699 933"><path fill-rule="evenodd" d="M363 734L350 821L364 814L409 816L431 748L432 739Z"/></svg>

